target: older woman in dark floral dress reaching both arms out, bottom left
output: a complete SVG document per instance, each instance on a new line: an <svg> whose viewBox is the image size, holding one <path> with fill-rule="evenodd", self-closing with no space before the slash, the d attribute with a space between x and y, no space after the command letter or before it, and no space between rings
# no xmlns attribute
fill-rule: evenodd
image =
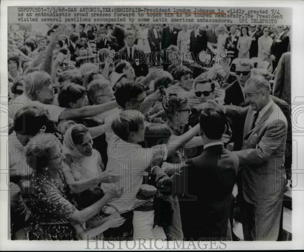
<svg viewBox="0 0 304 252"><path fill-rule="evenodd" d="M116 218L115 224L109 219L90 231L82 229L81 225L97 215L107 204L111 192L90 207L79 211L67 192L61 171L64 167L64 155L61 144L54 135L41 134L33 137L25 153L28 160L36 160L33 166L36 180L32 183L33 193L29 201L33 214L30 240L78 240L79 237L83 239L84 233L102 233L109 227L123 223L123 219Z"/></svg>

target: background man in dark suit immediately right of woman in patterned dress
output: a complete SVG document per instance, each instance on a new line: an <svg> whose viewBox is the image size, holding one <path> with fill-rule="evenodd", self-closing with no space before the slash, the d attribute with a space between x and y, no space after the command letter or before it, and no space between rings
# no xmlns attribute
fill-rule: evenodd
<svg viewBox="0 0 304 252"><path fill-rule="evenodd" d="M194 25L194 30L190 33L190 52L193 53L195 62L198 62L198 54L207 49L206 31L200 30L199 25Z"/></svg>

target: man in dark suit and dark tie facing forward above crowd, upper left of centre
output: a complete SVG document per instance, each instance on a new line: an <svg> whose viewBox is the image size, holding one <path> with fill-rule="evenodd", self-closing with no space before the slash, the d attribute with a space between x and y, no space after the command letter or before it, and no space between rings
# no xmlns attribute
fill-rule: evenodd
<svg viewBox="0 0 304 252"><path fill-rule="evenodd" d="M126 46L119 50L119 58L128 61L134 69L136 77L146 76L149 72L146 54L134 45L135 34L126 32Z"/></svg>

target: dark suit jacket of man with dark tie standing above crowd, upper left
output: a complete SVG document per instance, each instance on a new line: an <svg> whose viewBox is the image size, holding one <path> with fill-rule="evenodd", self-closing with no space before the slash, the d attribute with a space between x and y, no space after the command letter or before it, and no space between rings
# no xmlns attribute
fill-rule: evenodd
<svg viewBox="0 0 304 252"><path fill-rule="evenodd" d="M121 59L127 61L127 59L125 57L128 52L127 47L123 47L118 52L120 53ZM134 69L136 77L146 76L149 72L149 68L148 68L146 59L144 57L140 57L139 56L140 54L144 54L144 52L135 47L134 54L133 54L133 56L135 57L135 60L134 60L134 63L131 64L131 66Z"/></svg>

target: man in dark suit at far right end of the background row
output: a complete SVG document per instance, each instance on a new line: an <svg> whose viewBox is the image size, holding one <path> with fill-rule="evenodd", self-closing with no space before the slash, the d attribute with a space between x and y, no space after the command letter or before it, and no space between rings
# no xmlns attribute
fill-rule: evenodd
<svg viewBox="0 0 304 252"><path fill-rule="evenodd" d="M273 70L275 70L275 68L277 67L282 54L287 52L289 44L289 37L287 36L289 30L288 26L278 25L277 30L278 35L273 38L273 42L270 48Z"/></svg>

